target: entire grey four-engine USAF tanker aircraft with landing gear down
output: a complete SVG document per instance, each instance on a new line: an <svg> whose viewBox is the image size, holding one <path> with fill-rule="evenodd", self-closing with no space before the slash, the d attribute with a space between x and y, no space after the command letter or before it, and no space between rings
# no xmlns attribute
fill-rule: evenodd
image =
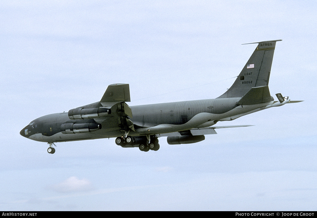
<svg viewBox="0 0 317 218"><path fill-rule="evenodd" d="M281 93L278 101L270 95L268 81L275 44L272 40L258 43L255 51L233 85L216 99L181 101L129 107L129 84L109 85L99 102L63 113L49 114L33 120L20 134L49 144L53 154L56 142L116 138L122 147L139 147L141 151L159 150L159 137L167 136L168 144L200 142L206 134L217 134L218 121L230 121L290 101ZM252 44L252 43L248 43Z"/></svg>

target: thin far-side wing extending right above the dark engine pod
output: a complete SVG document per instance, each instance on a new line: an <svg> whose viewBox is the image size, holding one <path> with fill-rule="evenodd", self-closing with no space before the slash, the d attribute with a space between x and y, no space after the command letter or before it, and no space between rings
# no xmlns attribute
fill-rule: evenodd
<svg viewBox="0 0 317 218"><path fill-rule="evenodd" d="M212 127L204 127L204 128L194 128L194 129L185 130L185 131L179 131L179 132L170 132L170 133L165 133L165 134L157 134L156 137L210 135L210 134L217 134L215 129L245 127L245 126L253 126L253 125L212 126Z"/></svg>

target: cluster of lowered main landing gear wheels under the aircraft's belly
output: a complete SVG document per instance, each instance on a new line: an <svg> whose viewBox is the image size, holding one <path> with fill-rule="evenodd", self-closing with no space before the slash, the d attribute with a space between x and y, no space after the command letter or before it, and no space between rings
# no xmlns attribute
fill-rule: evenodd
<svg viewBox="0 0 317 218"><path fill-rule="evenodd" d="M159 150L159 139L157 137L146 136L142 138L136 138L132 136L121 136L115 140L117 145L122 147L139 147L141 151L157 151Z"/></svg>

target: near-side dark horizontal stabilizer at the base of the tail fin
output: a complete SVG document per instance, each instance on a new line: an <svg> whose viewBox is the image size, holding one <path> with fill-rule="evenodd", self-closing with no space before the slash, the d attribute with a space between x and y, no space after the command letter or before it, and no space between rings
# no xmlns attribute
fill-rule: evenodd
<svg viewBox="0 0 317 218"><path fill-rule="evenodd" d="M256 105L271 101L268 86L252 87L239 101L238 105Z"/></svg>

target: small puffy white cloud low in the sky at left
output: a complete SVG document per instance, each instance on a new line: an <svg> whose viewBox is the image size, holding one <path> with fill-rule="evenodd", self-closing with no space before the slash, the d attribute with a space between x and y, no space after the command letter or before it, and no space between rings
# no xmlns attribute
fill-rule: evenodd
<svg viewBox="0 0 317 218"><path fill-rule="evenodd" d="M76 176L71 176L61 183L53 185L52 187L57 192L78 192L90 191L92 189L90 181L87 179L78 179Z"/></svg>

